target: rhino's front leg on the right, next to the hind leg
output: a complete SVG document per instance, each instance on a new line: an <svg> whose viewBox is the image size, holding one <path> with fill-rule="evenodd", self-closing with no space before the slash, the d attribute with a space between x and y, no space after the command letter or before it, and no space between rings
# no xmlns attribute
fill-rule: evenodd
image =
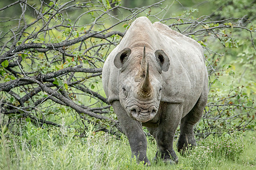
<svg viewBox="0 0 256 170"><path fill-rule="evenodd" d="M161 109L161 122L159 127L154 130L159 149L156 156L160 155L164 162L177 164L179 159L173 148L174 135L181 120L183 106L181 104L165 103Z"/></svg>

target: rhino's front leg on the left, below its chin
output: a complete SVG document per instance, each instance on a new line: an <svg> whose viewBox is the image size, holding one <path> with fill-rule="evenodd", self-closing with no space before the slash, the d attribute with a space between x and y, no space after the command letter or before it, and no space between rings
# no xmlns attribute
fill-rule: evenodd
<svg viewBox="0 0 256 170"><path fill-rule="evenodd" d="M150 165L150 161L147 159L147 139L141 123L128 116L120 101L114 101L112 105L129 140L132 156L135 155L139 162L144 161L144 164Z"/></svg>

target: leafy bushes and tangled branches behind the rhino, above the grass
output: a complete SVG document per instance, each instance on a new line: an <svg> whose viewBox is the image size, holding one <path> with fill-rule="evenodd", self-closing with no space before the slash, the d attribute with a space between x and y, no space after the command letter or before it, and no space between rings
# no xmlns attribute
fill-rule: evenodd
<svg viewBox="0 0 256 170"><path fill-rule="evenodd" d="M133 20L147 16L204 48L209 100L196 135L255 130L253 2L246 5L246 15L246 0L210 1L219 10L202 16L197 8L178 1L141 8L112 2L0 2L1 125L17 131L17 122L31 121L40 128L68 128L84 137L93 124L96 132L119 134L122 130L102 90L101 68ZM173 14L178 7L183 10ZM39 142L28 134L27 140Z"/></svg>

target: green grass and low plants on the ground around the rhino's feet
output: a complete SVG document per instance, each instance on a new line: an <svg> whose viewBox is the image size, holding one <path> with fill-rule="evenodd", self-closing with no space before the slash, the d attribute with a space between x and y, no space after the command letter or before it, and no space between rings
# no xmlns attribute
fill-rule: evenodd
<svg viewBox="0 0 256 170"><path fill-rule="evenodd" d="M4 129L4 128L2 128ZM180 156L179 164L155 163L155 140L148 137L148 159L144 167L131 159L125 135L117 139L106 133L86 138L74 137L75 131L64 128L41 129L28 122L19 134L2 131L0 169L255 169L256 140L254 131L210 136L199 140L190 154ZM176 148L176 147L175 147Z"/></svg>

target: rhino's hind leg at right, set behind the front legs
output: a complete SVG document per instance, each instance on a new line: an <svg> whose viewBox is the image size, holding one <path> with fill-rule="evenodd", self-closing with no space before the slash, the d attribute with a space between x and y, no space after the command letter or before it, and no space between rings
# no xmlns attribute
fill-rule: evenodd
<svg viewBox="0 0 256 170"><path fill-rule="evenodd" d="M200 120L201 116L203 115L206 104L207 90L204 90L192 110L181 119L180 136L177 141L177 150L181 155L183 155L185 151L188 151L188 148L196 146L193 126Z"/></svg>

